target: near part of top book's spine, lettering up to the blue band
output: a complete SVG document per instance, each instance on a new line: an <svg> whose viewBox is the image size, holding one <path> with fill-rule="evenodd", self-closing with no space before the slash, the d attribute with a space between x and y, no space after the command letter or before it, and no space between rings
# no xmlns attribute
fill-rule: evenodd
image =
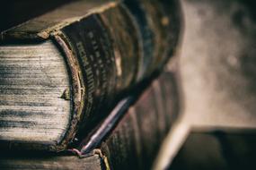
<svg viewBox="0 0 256 170"><path fill-rule="evenodd" d="M79 129L84 129L106 115L121 91L134 84L139 57L137 30L122 5L110 5L108 10L93 13L55 35L57 43L68 48L66 56L72 58L68 61L75 60L75 64L67 63L76 71L72 77L78 73L74 80L78 86L73 91L81 91L71 131L61 145L74 138L78 130L75 124L81 122Z"/></svg>

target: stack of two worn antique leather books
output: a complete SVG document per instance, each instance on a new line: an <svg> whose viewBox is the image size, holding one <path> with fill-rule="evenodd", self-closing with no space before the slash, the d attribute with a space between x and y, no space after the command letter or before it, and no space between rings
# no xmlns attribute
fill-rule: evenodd
<svg viewBox="0 0 256 170"><path fill-rule="evenodd" d="M72 1L4 30L0 169L151 168L180 113L180 35L176 0Z"/></svg>

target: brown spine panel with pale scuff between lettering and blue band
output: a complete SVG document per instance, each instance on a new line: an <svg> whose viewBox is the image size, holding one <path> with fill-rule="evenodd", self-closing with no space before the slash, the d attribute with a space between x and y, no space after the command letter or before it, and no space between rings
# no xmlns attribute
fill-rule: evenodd
<svg viewBox="0 0 256 170"><path fill-rule="evenodd" d="M136 83L138 63L142 57L142 39L138 36L137 23L123 4L100 13L100 17L113 40L118 75L116 88L118 91L128 89Z"/></svg>

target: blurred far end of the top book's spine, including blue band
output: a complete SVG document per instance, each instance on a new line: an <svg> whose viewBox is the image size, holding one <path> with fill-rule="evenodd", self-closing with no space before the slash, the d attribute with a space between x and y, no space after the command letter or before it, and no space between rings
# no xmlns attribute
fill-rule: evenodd
<svg viewBox="0 0 256 170"><path fill-rule="evenodd" d="M138 80L160 72L173 55L181 31L181 6L177 0L124 0L142 38L143 57Z"/></svg>

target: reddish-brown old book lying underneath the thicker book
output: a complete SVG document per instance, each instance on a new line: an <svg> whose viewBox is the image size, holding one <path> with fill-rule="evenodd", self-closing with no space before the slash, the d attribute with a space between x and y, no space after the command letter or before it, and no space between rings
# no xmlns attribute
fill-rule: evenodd
<svg viewBox="0 0 256 170"><path fill-rule="evenodd" d="M3 155L1 169L149 169L166 133L180 112L175 75L164 72L128 108L99 145L83 153L84 143L76 152L57 155L28 155L27 152ZM73 149L75 150L75 149ZM79 153L80 152L80 153ZM80 157L72 155L79 153ZM82 153L82 154L81 154Z"/></svg>

